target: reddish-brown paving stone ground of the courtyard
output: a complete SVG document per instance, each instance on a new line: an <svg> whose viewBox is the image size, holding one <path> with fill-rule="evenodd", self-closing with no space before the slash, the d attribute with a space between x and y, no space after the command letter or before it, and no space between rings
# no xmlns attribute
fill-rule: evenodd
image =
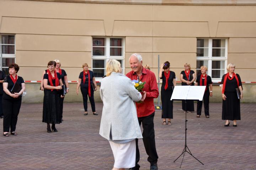
<svg viewBox="0 0 256 170"><path fill-rule="evenodd" d="M90 108L90 103L89 103ZM196 108L196 104L195 104ZM83 115L82 103L64 103L59 132L47 133L42 123L42 104L22 103L17 136L0 135L0 170L110 170L114 163L108 141L99 134L102 103L96 103L98 116ZM200 164L185 154L182 170L256 169L256 106L241 104L238 126L224 127L222 103L210 103L210 118L187 113L187 146ZM0 130L2 131L2 119ZM124 118L123 121L126 121ZM155 140L159 170L180 169L185 144L185 113L174 103L172 125L162 125L161 110L155 114ZM139 140L141 170L149 170L142 140Z"/></svg>

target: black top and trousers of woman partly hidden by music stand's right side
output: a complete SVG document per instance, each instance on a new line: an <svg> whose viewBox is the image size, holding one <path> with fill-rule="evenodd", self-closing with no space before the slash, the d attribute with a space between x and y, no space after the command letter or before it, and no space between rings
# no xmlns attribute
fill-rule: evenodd
<svg viewBox="0 0 256 170"><path fill-rule="evenodd" d="M201 79L201 74L199 74L196 79L198 86L200 86L200 79ZM206 91L204 92L203 101L199 101L199 100L197 101L197 115L201 115L202 105L204 103L204 114L206 116L209 116L209 98L210 98L209 84L212 84L212 78L209 75L207 75ZM202 86L205 86L204 79L202 79Z"/></svg>

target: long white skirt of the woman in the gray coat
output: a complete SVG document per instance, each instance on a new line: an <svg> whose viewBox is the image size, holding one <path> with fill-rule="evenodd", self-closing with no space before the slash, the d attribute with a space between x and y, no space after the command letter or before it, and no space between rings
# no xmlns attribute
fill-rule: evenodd
<svg viewBox="0 0 256 170"><path fill-rule="evenodd" d="M136 142L117 144L110 141L110 146L114 155L114 168L132 168L135 166Z"/></svg>

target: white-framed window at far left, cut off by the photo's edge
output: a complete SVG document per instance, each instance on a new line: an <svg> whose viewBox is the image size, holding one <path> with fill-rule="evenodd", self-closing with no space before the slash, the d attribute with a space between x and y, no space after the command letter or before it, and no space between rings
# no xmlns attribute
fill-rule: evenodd
<svg viewBox="0 0 256 170"><path fill-rule="evenodd" d="M15 35L0 34L0 70L9 75L9 65L15 63Z"/></svg>

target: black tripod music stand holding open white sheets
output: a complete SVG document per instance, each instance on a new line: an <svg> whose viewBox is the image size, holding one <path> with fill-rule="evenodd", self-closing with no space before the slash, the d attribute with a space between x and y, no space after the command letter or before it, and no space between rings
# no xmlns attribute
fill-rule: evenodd
<svg viewBox="0 0 256 170"><path fill-rule="evenodd" d="M181 155L183 154L181 165L186 152L190 154L193 158L195 158L198 162L200 162L196 157L193 156L193 154L187 147L187 121L188 121L187 120L187 101L194 101L194 100L202 101L205 88L206 86L175 86L174 91L172 93L171 100L185 101L185 147L182 153L180 154L180 156L178 156L178 158L180 158ZM175 159L175 161L177 159ZM203 165L202 162L200 163ZM180 165L180 168L181 168L181 165Z"/></svg>

